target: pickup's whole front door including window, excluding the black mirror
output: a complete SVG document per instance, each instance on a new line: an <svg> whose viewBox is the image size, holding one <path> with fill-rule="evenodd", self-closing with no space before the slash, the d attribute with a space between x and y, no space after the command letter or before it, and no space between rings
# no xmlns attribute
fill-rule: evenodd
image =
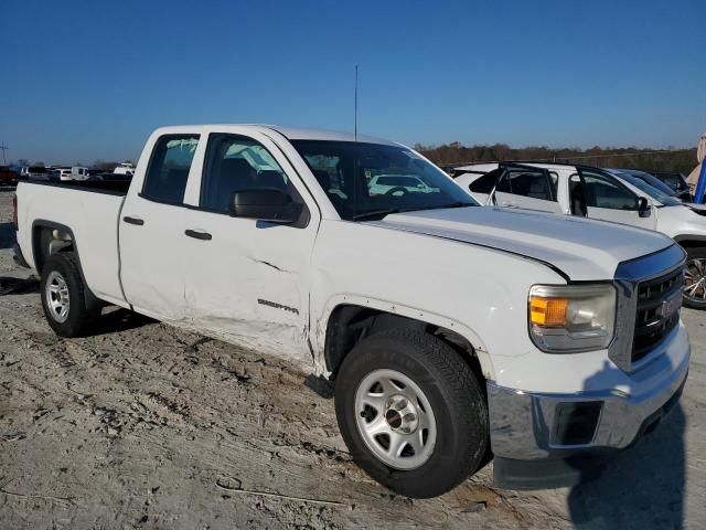
<svg viewBox="0 0 706 530"><path fill-rule="evenodd" d="M276 189L307 204L296 171L269 138L236 128L210 134L200 189L183 213L186 318L236 343L310 362L317 210L304 208L291 224L231 215L235 192L259 189Z"/></svg>

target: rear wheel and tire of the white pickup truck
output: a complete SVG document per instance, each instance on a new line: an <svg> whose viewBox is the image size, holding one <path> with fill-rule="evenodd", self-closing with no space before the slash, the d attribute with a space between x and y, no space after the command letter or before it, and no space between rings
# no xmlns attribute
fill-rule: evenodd
<svg viewBox="0 0 706 530"><path fill-rule="evenodd" d="M100 314L99 308L86 307L79 271L78 257L72 252L50 256L42 268L42 308L50 327L60 337L81 337Z"/></svg>

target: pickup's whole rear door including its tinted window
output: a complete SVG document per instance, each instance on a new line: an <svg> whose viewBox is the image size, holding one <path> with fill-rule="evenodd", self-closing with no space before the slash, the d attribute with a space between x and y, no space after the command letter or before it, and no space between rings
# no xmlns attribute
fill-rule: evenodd
<svg viewBox="0 0 706 530"><path fill-rule="evenodd" d="M141 314L184 318L184 194L200 135L164 135L152 148L143 180L136 176L119 220L120 278Z"/></svg>

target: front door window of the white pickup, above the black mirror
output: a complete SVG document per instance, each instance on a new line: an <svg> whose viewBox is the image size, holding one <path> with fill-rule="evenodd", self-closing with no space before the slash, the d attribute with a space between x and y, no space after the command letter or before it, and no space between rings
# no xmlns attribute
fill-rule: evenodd
<svg viewBox="0 0 706 530"><path fill-rule="evenodd" d="M201 208L228 213L233 193L258 189L276 189L299 197L263 145L237 135L211 135L201 184Z"/></svg>

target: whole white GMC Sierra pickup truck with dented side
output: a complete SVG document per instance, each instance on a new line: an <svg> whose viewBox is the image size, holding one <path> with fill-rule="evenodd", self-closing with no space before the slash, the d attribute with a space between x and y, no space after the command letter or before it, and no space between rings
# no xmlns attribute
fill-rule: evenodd
<svg viewBox="0 0 706 530"><path fill-rule="evenodd" d="M424 190L371 191L381 174ZM686 380L671 239L478 208L398 144L167 127L129 188L23 181L15 215L56 333L113 304L297 361L334 382L355 462L409 497L490 456L500 486L579 480Z"/></svg>

